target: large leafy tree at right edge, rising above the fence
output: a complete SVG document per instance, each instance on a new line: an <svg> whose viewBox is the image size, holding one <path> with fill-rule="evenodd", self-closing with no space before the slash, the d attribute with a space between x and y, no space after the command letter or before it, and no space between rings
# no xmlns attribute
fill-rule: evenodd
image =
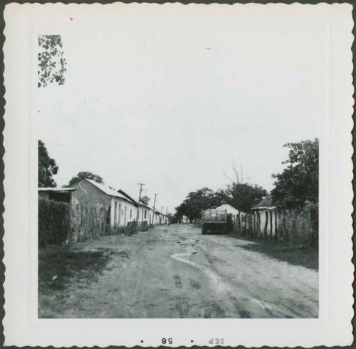
<svg viewBox="0 0 356 349"><path fill-rule="evenodd" d="M282 209L302 209L305 202L318 203L319 199L319 140L287 143L287 167L273 174L275 188L271 191L273 203Z"/></svg>

